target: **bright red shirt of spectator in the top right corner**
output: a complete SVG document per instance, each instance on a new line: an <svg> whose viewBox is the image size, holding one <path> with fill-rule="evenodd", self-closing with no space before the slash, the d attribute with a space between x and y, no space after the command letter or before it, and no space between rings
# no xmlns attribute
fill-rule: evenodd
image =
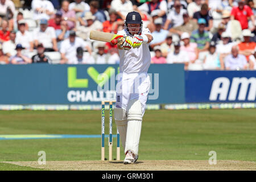
<svg viewBox="0 0 256 182"><path fill-rule="evenodd" d="M248 28L247 18L253 15L253 11L247 5L243 6L243 9L240 10L238 7L233 7L231 15L234 16L234 19L238 20L241 24L242 30Z"/></svg>

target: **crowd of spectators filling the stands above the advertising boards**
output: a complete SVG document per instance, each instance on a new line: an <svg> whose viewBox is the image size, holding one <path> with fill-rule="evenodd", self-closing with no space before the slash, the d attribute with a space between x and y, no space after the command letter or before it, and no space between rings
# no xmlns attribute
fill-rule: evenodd
<svg viewBox="0 0 256 182"><path fill-rule="evenodd" d="M117 34L130 11L152 32L152 64L256 69L256 0L0 0L0 64L118 64Z"/></svg>

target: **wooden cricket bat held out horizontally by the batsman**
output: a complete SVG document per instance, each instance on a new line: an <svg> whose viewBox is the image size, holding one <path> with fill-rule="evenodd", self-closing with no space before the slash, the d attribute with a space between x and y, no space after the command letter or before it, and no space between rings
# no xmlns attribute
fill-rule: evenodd
<svg viewBox="0 0 256 182"><path fill-rule="evenodd" d="M123 43L123 36L117 34L111 34L107 32L100 32L96 30L90 31L90 39L99 40L103 42L111 42L113 44L122 44Z"/></svg>

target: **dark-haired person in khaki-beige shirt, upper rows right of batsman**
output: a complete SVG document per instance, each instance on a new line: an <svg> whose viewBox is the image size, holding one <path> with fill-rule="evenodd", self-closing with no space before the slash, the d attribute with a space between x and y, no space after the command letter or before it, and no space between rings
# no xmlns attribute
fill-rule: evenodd
<svg viewBox="0 0 256 182"><path fill-rule="evenodd" d="M171 28L169 31L181 36L183 32L188 32L188 34L191 35L193 31L198 29L197 23L190 19L187 13L183 14L183 22L181 26Z"/></svg>

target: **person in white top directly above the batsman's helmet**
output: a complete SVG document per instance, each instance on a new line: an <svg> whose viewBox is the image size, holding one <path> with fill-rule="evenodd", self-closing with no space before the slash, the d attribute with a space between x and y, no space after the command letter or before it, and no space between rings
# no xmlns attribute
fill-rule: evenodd
<svg viewBox="0 0 256 182"><path fill-rule="evenodd" d="M133 11L133 3L130 0L113 0L111 2L111 8L117 11L120 18L125 20L126 15Z"/></svg>

